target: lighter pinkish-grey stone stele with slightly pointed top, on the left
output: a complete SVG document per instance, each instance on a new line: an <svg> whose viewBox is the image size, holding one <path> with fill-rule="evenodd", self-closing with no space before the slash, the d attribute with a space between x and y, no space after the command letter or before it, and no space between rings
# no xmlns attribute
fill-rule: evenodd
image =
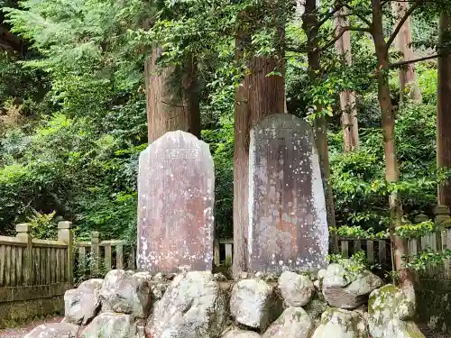
<svg viewBox="0 0 451 338"><path fill-rule="evenodd" d="M167 132L141 153L139 269L212 269L214 192L208 145L189 132Z"/></svg>

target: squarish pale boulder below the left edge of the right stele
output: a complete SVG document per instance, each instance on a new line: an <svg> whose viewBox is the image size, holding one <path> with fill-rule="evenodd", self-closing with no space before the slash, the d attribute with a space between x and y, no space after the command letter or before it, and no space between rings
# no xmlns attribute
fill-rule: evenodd
<svg viewBox="0 0 451 338"><path fill-rule="evenodd" d="M240 280L232 289L230 313L240 324L264 331L274 306L273 289L262 279Z"/></svg>

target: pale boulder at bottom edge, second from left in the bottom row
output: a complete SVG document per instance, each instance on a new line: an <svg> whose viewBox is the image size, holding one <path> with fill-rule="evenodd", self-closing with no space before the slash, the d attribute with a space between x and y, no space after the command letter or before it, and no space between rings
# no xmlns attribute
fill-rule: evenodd
<svg viewBox="0 0 451 338"><path fill-rule="evenodd" d="M94 318L81 333L81 338L135 338L136 334L131 315L106 313Z"/></svg>

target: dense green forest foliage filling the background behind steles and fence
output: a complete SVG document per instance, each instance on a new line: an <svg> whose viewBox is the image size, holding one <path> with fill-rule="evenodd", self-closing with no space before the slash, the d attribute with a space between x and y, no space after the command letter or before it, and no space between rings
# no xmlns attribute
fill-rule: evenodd
<svg viewBox="0 0 451 338"><path fill-rule="evenodd" d="M236 62L231 32L250 3L259 4L0 3L5 8L0 32L8 44L0 54L0 232L26 221L36 235L51 237L60 216L77 225L80 238L97 230L106 238L135 241L137 161L148 137L144 63L158 41L165 50L161 65L177 69L188 52L196 55L201 137L216 166L216 227L219 236L231 237L235 89L245 73ZM326 3L318 16L326 18L322 30L330 35L336 23L327 17ZM296 46L286 47L284 56L287 111L313 123L316 105L325 107L336 225L381 231L390 214L373 39L366 32L350 33L352 64L329 44L315 81L299 47L307 38L296 11L290 4L280 14L284 41ZM411 15L417 58L437 50L439 14L426 5ZM383 18L389 36L391 11ZM262 22L253 23L253 52L271 54L274 37ZM396 53L392 49L391 58L399 59ZM431 215L437 205L437 59L415 63L414 69L421 100L401 97L399 69L389 74L406 219ZM171 79L180 81L177 71ZM359 147L354 151L344 151L339 97L344 90L353 90L356 98Z"/></svg>

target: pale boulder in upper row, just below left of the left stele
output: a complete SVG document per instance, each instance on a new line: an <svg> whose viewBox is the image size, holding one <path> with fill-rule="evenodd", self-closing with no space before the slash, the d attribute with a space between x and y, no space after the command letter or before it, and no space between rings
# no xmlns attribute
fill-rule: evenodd
<svg viewBox="0 0 451 338"><path fill-rule="evenodd" d="M123 269L114 269L106 274L99 293L102 312L116 312L146 318L152 304L148 279L131 275Z"/></svg>

